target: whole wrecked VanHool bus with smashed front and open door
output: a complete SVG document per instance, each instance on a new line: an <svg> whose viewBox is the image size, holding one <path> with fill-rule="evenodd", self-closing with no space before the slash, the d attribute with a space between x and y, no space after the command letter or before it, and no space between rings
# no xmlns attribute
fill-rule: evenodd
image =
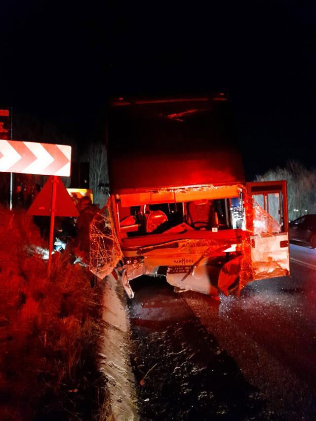
<svg viewBox="0 0 316 421"><path fill-rule="evenodd" d="M245 182L232 121L224 94L114 102L91 271L129 297L144 274L214 297L289 274L286 183Z"/></svg>

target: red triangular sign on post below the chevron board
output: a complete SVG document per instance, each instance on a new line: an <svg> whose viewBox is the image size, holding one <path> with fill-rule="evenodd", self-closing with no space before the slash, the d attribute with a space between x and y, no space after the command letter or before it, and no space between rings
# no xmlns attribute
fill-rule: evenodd
<svg viewBox="0 0 316 421"><path fill-rule="evenodd" d="M35 198L30 209L29 215L50 216L51 196L53 191L53 177L44 184L43 188ZM60 177L57 177L56 189L56 207L55 216L78 216L79 212L73 202L70 194L66 190Z"/></svg>

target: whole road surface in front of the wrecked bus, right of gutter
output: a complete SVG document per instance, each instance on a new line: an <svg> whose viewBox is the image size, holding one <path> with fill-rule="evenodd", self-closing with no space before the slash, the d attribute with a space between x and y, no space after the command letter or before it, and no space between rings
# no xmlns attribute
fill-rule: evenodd
<svg viewBox="0 0 316 421"><path fill-rule="evenodd" d="M315 420L316 250L290 246L291 276L239 298L133 282L141 420Z"/></svg>

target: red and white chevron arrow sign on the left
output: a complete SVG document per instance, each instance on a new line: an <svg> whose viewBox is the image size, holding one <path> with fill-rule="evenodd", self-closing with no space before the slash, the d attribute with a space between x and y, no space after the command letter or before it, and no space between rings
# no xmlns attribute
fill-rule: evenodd
<svg viewBox="0 0 316 421"><path fill-rule="evenodd" d="M70 175L71 146L0 139L0 171Z"/></svg>

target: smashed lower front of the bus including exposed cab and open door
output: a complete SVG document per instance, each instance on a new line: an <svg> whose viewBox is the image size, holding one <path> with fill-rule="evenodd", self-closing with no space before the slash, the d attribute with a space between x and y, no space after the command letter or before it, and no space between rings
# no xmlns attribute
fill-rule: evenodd
<svg viewBox="0 0 316 421"><path fill-rule="evenodd" d="M287 275L285 182L266 183L259 190L255 185L248 190L236 184L112 195L99 222L103 212L112 245L117 244L113 250L120 255L109 253L107 262L100 263L94 236L94 273L102 277L114 271L130 298L129 281L144 274L165 276L177 292L213 297L219 291L239 293L255 279Z"/></svg>

